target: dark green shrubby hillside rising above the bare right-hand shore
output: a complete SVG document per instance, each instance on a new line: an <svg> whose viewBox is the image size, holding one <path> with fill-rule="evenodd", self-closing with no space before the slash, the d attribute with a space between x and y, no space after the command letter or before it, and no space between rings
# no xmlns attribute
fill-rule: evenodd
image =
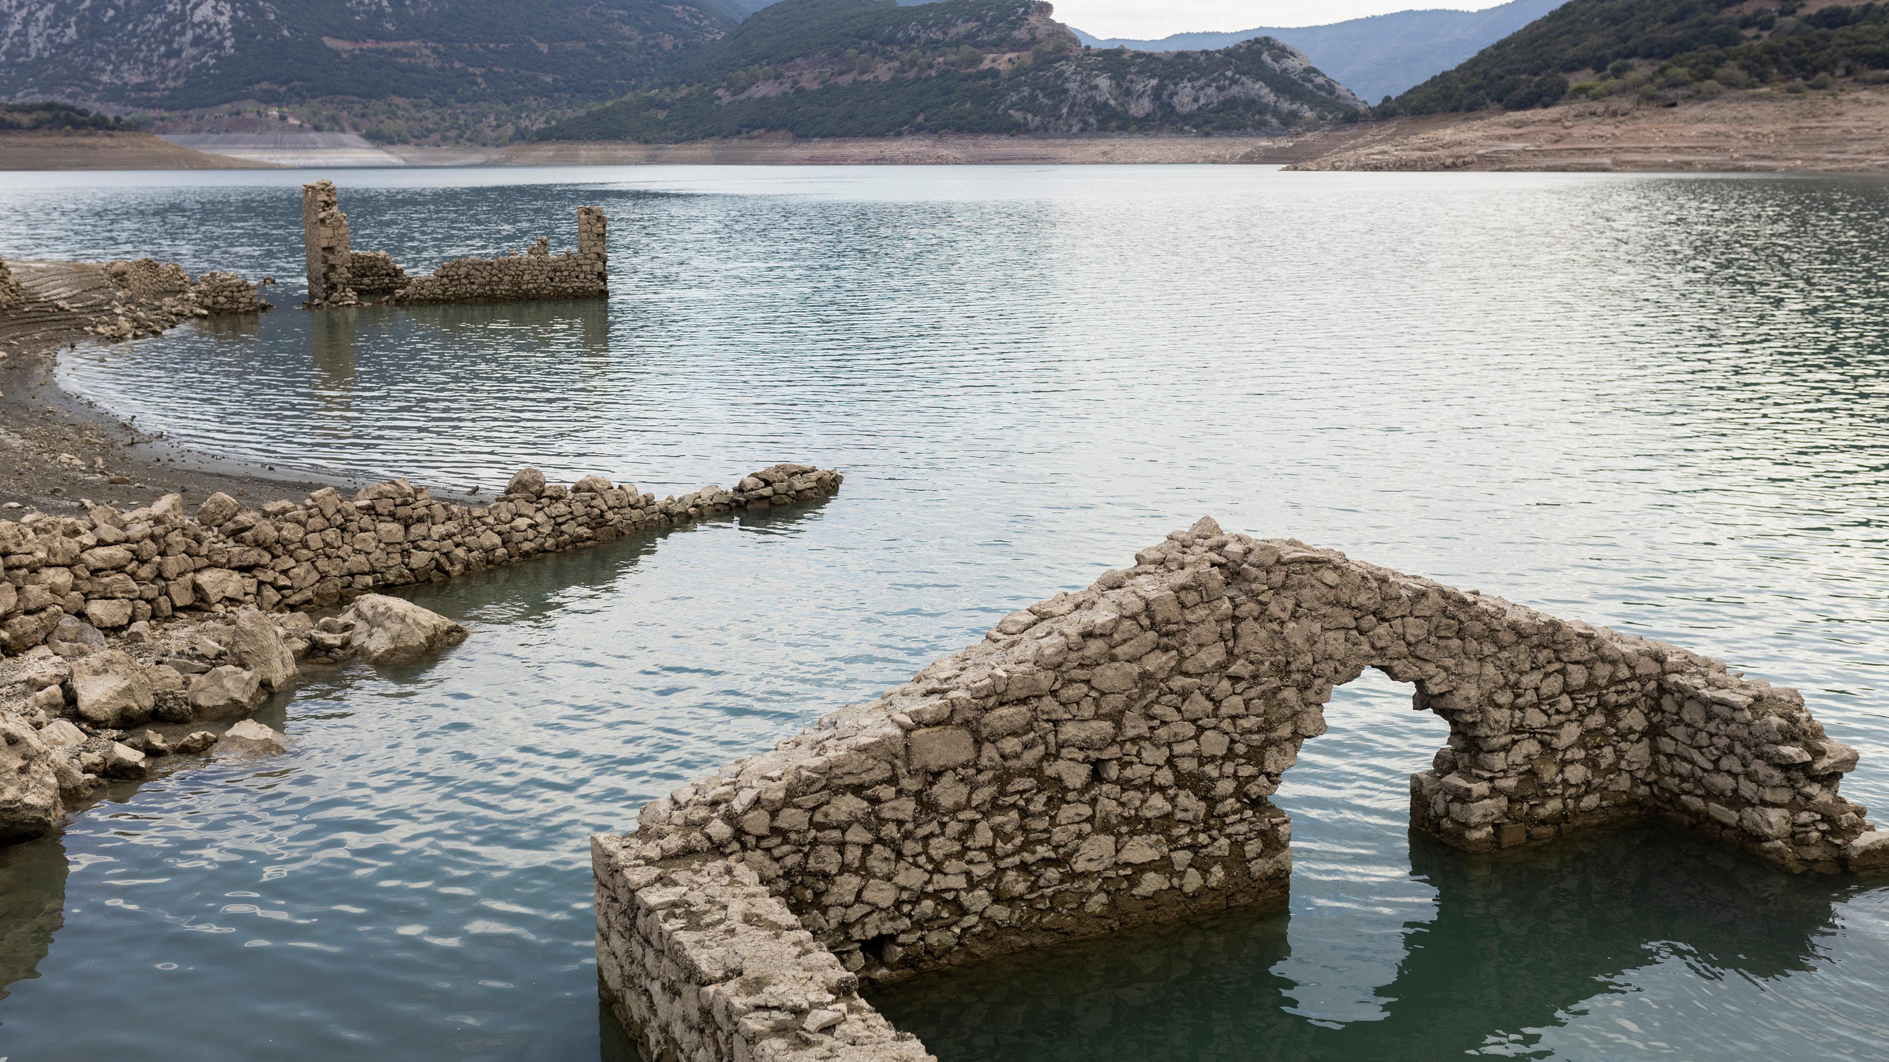
<svg viewBox="0 0 1889 1062"><path fill-rule="evenodd" d="M1524 110L1566 96L1802 91L1889 70L1889 6L1783 0L1568 0L1379 113Z"/></svg>

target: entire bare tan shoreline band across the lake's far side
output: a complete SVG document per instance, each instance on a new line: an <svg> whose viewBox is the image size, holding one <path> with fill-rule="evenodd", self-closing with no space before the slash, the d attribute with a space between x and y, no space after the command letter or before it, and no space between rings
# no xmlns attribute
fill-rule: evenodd
<svg viewBox="0 0 1889 1062"><path fill-rule="evenodd" d="M914 134L691 144L550 140L387 146L408 166L1275 164L1400 172L1889 172L1889 87L1730 93L1679 106L1611 98L1528 111L1400 117L1290 136ZM298 153L306 168L346 168ZM268 168L144 132L0 132L0 170Z"/></svg>

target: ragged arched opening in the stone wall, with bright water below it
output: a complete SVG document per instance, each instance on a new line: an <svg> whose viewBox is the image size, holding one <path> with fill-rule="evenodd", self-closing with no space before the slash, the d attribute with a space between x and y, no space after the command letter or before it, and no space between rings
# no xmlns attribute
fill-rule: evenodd
<svg viewBox="0 0 1889 1062"><path fill-rule="evenodd" d="M1436 888L1411 875L1409 779L1449 724L1411 709L1413 688L1377 669L1332 692L1326 733L1307 739L1273 803L1292 816L1288 954L1273 966L1288 1013L1317 1024L1388 1017L1411 924Z"/></svg>

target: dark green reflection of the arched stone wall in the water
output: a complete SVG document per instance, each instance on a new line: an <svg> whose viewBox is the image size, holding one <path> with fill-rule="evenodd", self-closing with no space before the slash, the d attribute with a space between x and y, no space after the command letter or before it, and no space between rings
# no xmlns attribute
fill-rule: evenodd
<svg viewBox="0 0 1889 1062"><path fill-rule="evenodd" d="M1271 973L1290 952L1288 915L1264 911L924 975L873 1002L943 1062L1519 1054L1538 1039L1530 1030L1596 992L1632 990L1621 975L1662 956L1708 981L1808 971L1825 958L1832 903L1859 890L1785 879L1662 826L1496 858L1421 833L1409 843L1411 875L1436 888L1438 907L1405 926L1381 1020L1290 1013L1294 985ZM1693 1056L1715 1056L1708 1041Z"/></svg>

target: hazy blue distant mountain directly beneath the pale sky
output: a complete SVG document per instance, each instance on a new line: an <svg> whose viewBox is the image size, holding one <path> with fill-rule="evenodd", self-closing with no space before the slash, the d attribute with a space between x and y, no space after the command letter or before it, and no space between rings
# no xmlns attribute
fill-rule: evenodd
<svg viewBox="0 0 1889 1062"><path fill-rule="evenodd" d="M1511 0L1485 11L1398 11L1324 26L1173 34L1162 40L1092 38L1092 47L1132 51L1215 49L1269 36L1305 53L1319 70L1366 100L1394 96L1513 34L1564 0Z"/></svg>

